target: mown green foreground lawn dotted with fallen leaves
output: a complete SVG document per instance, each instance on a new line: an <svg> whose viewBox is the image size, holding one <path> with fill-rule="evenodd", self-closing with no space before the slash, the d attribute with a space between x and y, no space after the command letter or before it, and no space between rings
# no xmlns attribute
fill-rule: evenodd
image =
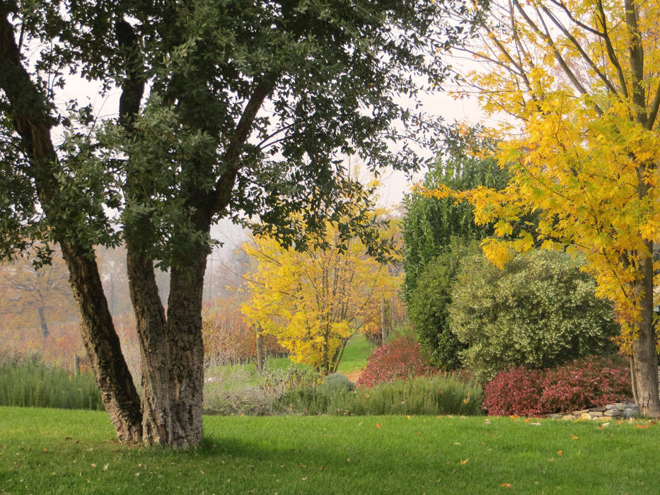
<svg viewBox="0 0 660 495"><path fill-rule="evenodd" d="M656 494L660 427L598 425L205 417L180 453L117 444L102 412L0 407L0 493Z"/></svg>

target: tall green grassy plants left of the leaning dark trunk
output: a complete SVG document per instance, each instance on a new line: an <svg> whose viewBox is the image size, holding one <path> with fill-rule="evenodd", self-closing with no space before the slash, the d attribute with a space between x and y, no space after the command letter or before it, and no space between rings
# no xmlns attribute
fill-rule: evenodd
<svg viewBox="0 0 660 495"><path fill-rule="evenodd" d="M92 375L71 375L34 356L0 355L0 406L103 410Z"/></svg>

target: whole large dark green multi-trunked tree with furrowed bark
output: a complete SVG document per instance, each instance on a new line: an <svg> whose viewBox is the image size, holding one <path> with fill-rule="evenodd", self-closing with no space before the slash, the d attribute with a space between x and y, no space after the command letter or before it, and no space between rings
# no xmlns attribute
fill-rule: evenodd
<svg viewBox="0 0 660 495"><path fill-rule="evenodd" d="M461 0L447 0L446 5ZM415 168L397 103L446 67L429 53L461 33L441 2L9 0L0 3L0 252L57 243L91 366L121 441L202 439L202 282L219 219L304 245L362 187L337 159ZM29 58L28 58L29 55ZM103 120L78 98L81 76ZM108 114L108 108L103 109ZM419 139L423 135L419 134ZM339 198L342 198L341 200ZM363 209L364 210L364 209ZM341 231L361 228L366 210ZM126 366L95 247L127 248L141 395ZM47 257L47 252L42 252ZM154 265L169 268L166 305Z"/></svg>

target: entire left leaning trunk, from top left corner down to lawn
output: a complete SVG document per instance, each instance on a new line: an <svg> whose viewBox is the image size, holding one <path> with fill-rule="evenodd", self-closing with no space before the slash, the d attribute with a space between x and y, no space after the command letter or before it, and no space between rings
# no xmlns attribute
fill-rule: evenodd
<svg viewBox="0 0 660 495"><path fill-rule="evenodd" d="M37 187L46 216L52 211L57 187L57 154L50 137L51 117L42 95L21 62L8 12L0 8L0 88L11 105L16 132ZM141 438L139 397L122 355L108 303L103 293L98 266L91 248L81 248L58 238L69 268L69 282L76 298L83 344L87 349L105 409L121 441Z"/></svg>

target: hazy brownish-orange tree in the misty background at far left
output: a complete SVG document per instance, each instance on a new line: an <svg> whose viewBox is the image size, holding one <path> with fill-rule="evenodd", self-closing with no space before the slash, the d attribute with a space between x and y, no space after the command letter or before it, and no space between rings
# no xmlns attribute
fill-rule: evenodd
<svg viewBox="0 0 660 495"><path fill-rule="evenodd" d="M5 328L34 327L48 337L49 322L69 322L75 302L69 272L59 253L50 265L37 268L25 257L0 265L0 315Z"/></svg>

